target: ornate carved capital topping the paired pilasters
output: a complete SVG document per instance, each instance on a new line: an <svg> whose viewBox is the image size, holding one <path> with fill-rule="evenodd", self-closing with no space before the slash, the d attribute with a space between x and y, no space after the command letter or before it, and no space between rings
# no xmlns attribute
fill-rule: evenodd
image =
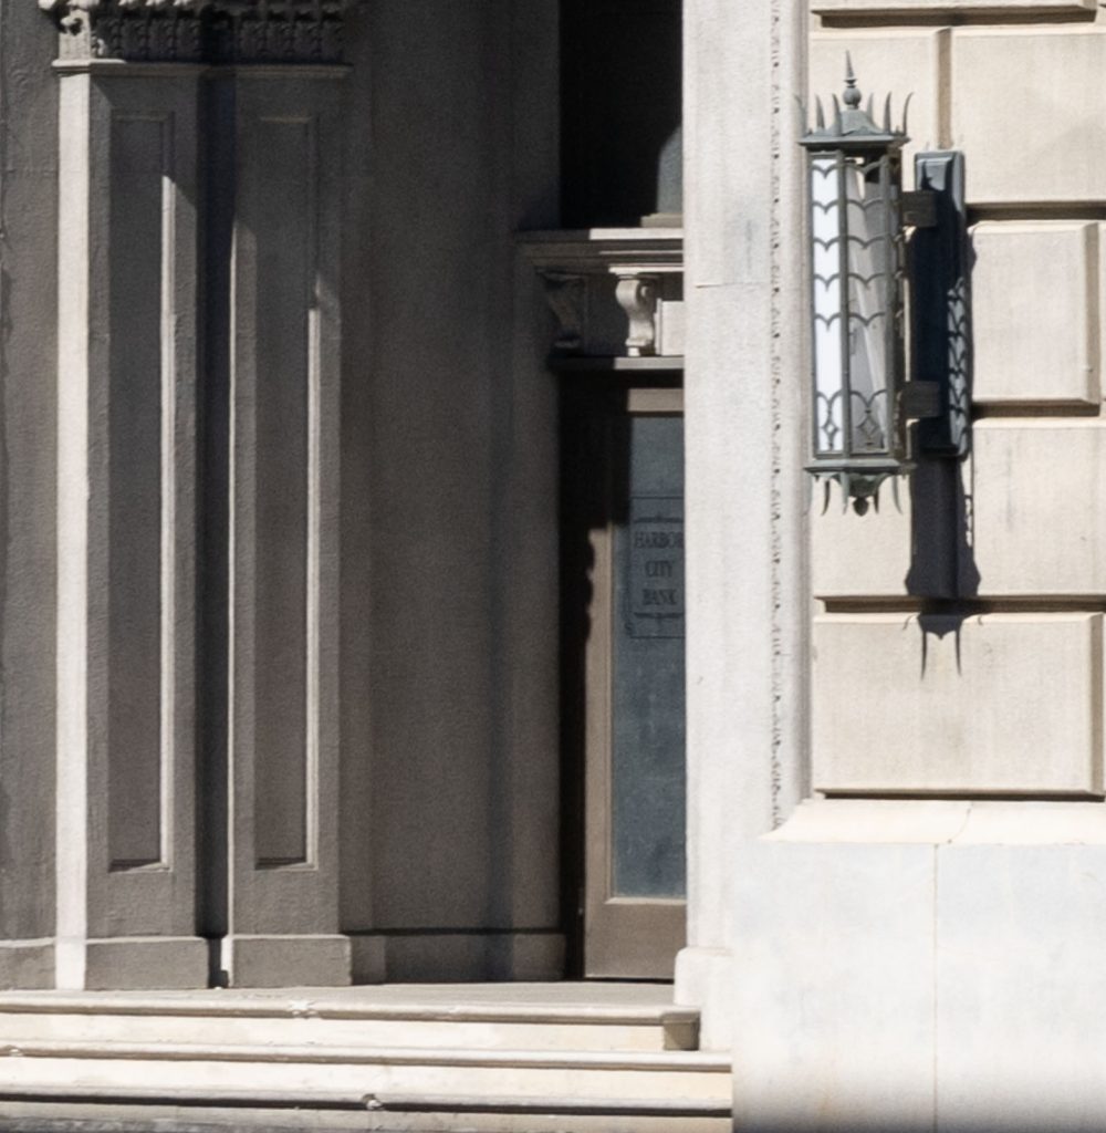
<svg viewBox="0 0 1106 1133"><path fill-rule="evenodd" d="M38 0L65 61L337 63L355 0Z"/></svg>

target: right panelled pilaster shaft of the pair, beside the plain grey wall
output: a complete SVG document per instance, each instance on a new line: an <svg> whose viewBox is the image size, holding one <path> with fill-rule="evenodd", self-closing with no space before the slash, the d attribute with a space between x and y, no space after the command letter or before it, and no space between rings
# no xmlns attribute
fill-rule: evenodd
<svg viewBox="0 0 1106 1133"><path fill-rule="evenodd" d="M340 80L215 79L226 338L229 892L238 986L344 983L338 935ZM225 218L224 218L225 220Z"/></svg>

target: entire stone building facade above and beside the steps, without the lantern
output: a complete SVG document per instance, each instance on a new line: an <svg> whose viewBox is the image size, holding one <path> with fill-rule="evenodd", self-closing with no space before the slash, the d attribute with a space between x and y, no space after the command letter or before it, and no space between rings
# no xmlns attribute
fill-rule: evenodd
<svg viewBox="0 0 1106 1133"><path fill-rule="evenodd" d="M0 982L674 977L741 1128L1091 1127L1100 12L631 15L0 5ZM971 224L970 457L864 516L804 471L846 51Z"/></svg>

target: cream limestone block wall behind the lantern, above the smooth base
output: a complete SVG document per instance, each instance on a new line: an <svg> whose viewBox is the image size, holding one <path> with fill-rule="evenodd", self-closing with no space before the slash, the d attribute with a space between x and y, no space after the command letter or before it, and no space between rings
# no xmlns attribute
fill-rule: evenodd
<svg viewBox="0 0 1106 1133"><path fill-rule="evenodd" d="M812 94L848 50L877 103L914 95L908 179L964 153L976 409L944 504L924 474L901 512L812 513L814 786L1098 795L1106 24L1083 0L814 11Z"/></svg>

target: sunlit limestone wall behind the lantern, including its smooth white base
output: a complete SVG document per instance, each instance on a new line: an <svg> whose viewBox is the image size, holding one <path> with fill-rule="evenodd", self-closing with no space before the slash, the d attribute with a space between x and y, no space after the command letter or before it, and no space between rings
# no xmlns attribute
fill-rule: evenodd
<svg viewBox="0 0 1106 1133"><path fill-rule="evenodd" d="M838 496L785 546L814 798L732 858L743 1130L1090 1130L1106 1101L1104 42L1084 0L814 3L812 92L849 50L865 93L915 93L911 151L964 153L975 421L901 512Z"/></svg>

